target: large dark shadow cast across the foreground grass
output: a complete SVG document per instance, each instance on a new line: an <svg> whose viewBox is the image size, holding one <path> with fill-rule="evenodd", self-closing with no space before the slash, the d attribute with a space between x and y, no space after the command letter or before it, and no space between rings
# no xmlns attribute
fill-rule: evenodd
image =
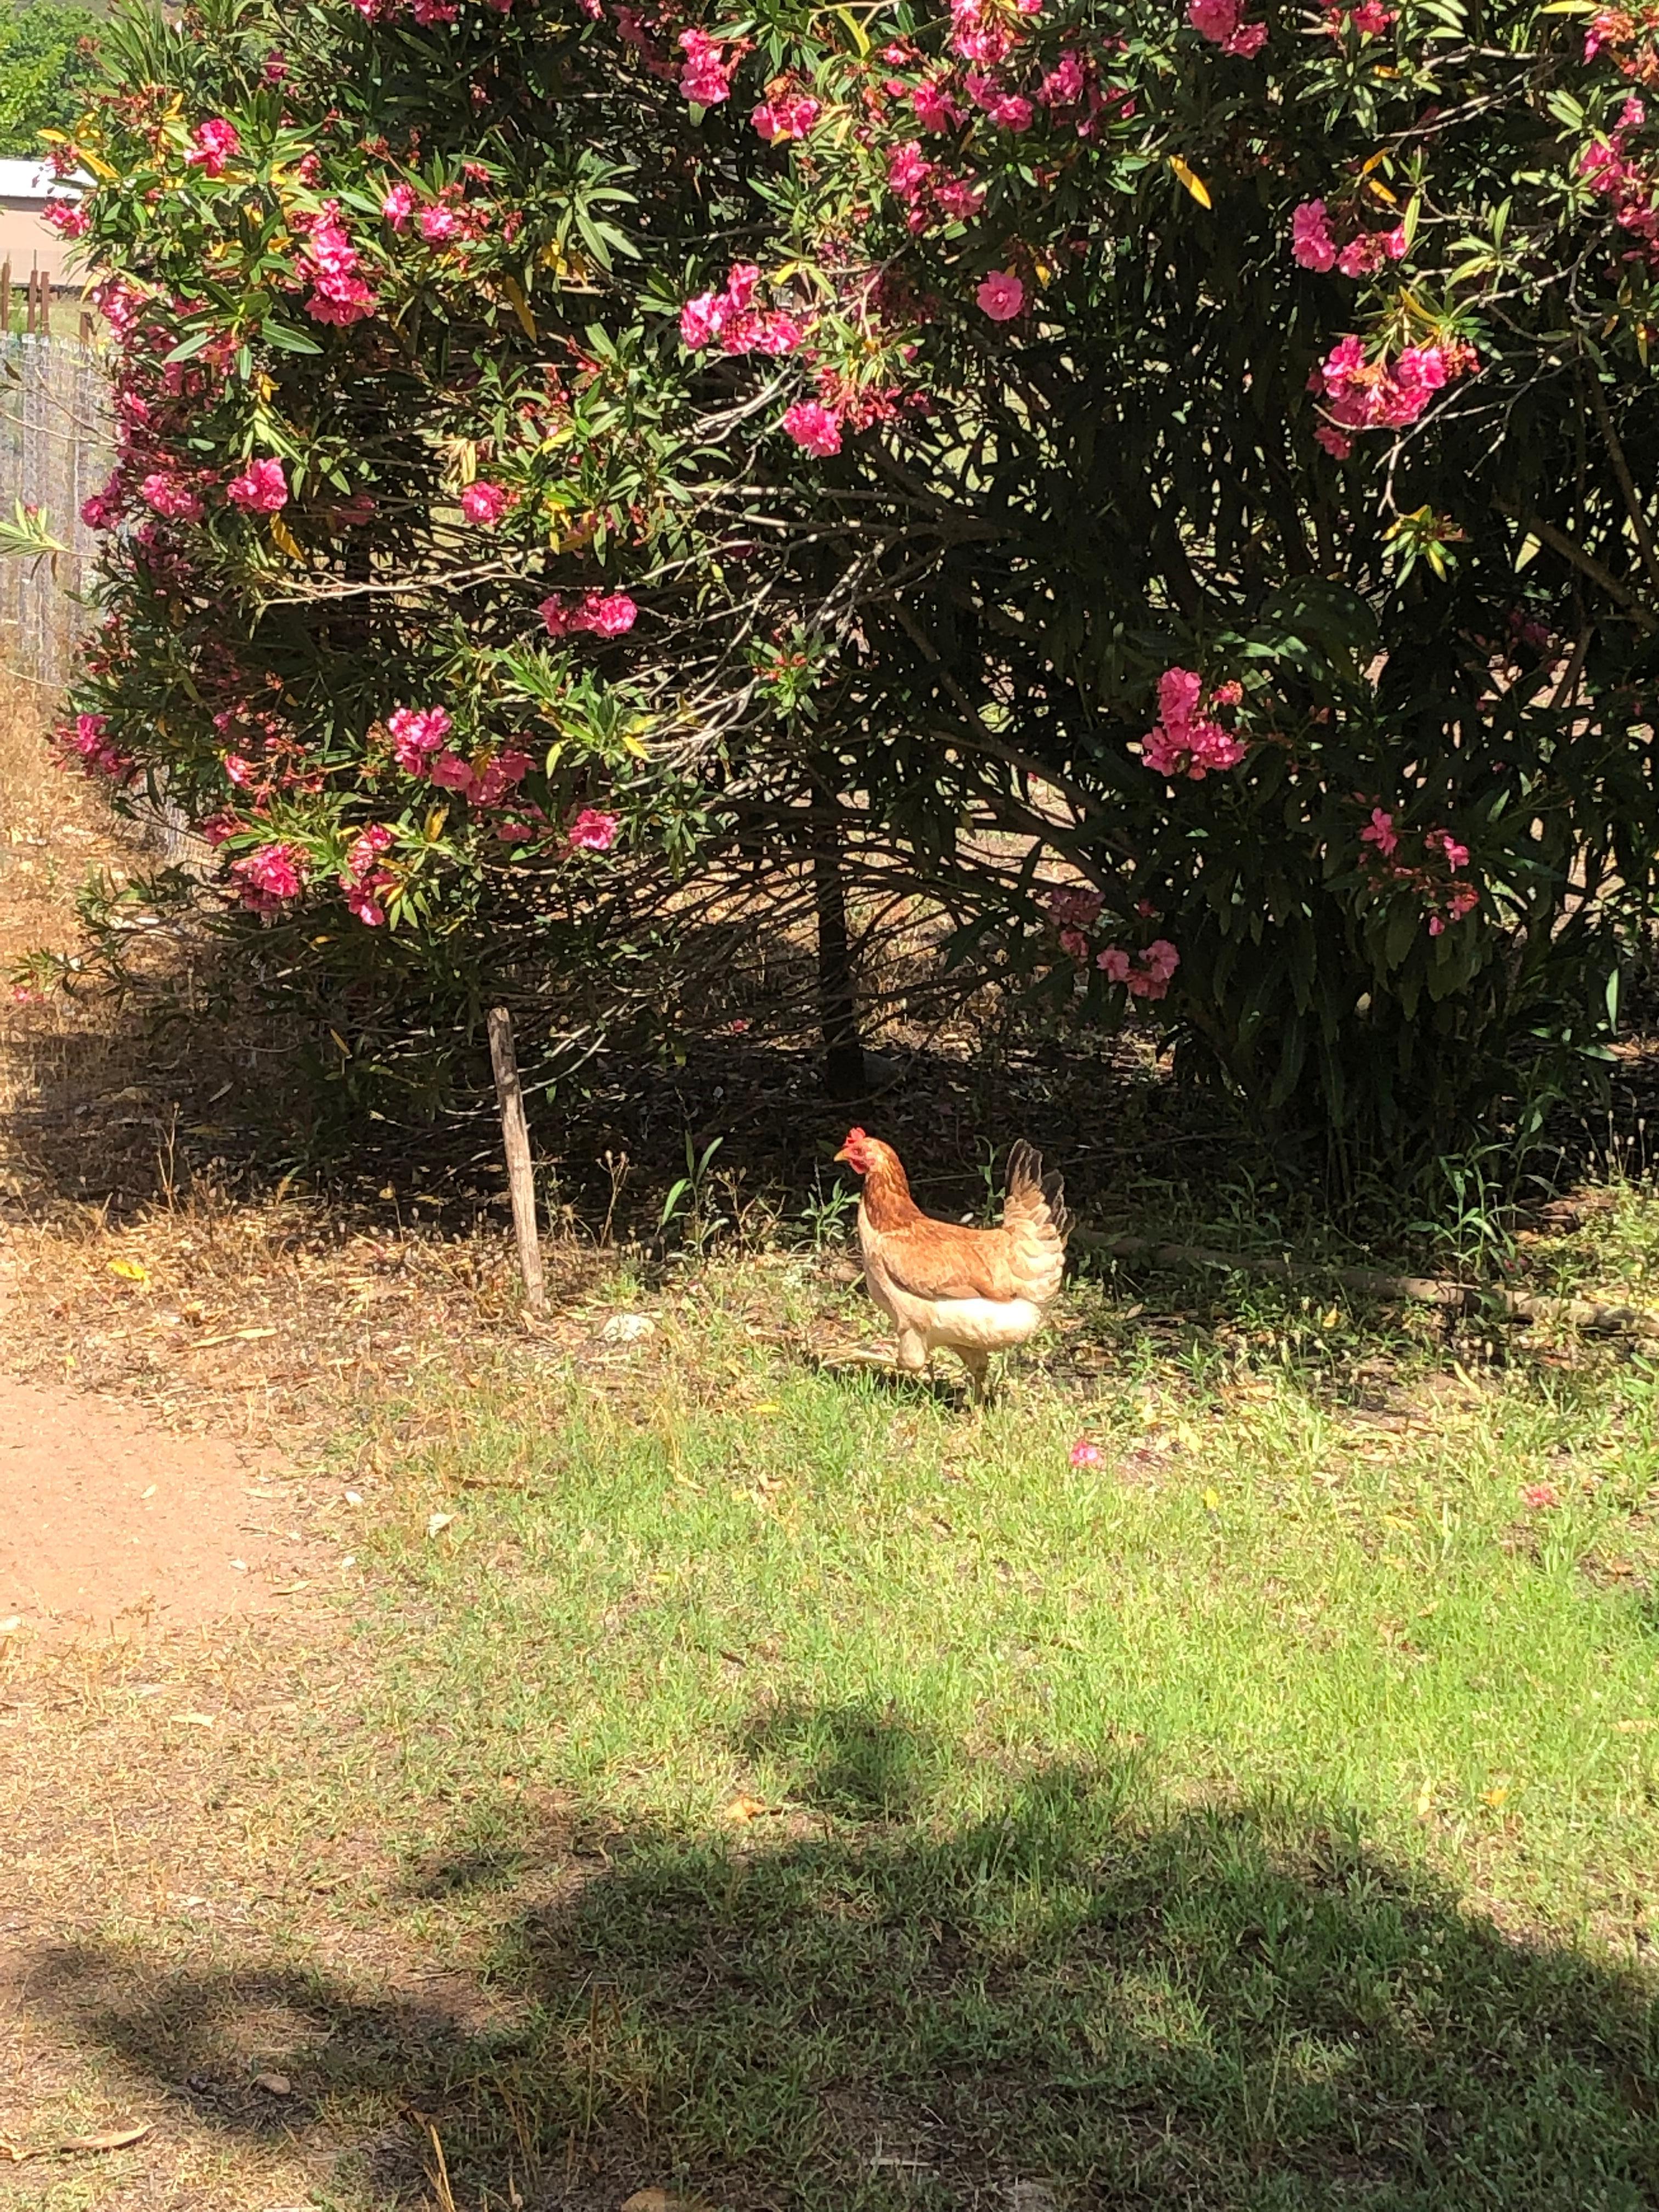
<svg viewBox="0 0 1659 2212"><path fill-rule="evenodd" d="M427 2121L462 2208L1655 2203L1635 1973L1504 1936L1310 1809L1159 1818L1133 1767L1048 1767L951 1827L931 1745L883 1714L761 1739L803 1803L880 1820L571 1856L504 1809L524 1854L465 1986L77 1949L29 2002L230 2132L270 2126L246 2053L279 2064L283 2117L358 2146L341 2205L420 2199Z"/></svg>

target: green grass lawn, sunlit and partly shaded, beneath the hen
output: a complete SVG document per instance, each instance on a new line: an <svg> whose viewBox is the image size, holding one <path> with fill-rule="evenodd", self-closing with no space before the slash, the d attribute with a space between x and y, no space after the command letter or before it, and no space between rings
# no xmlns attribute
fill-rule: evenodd
<svg viewBox="0 0 1659 2212"><path fill-rule="evenodd" d="M869 1312L787 1254L619 1292L343 1462L349 1690L237 1790L292 1918L113 2051L281 2017L374 2212L411 2108L469 2212L1659 2201L1650 1360L1084 1285L975 1418L792 1349Z"/></svg>

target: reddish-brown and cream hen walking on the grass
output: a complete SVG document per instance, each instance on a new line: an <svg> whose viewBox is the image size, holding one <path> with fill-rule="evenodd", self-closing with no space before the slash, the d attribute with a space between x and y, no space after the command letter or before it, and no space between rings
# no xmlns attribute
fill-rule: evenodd
<svg viewBox="0 0 1659 2212"><path fill-rule="evenodd" d="M898 1365L920 1374L936 1352L956 1352L984 1398L991 1354L1035 1336L1060 1292L1071 1228L1060 1179L1044 1188L1042 1157L1015 1144L1002 1228L971 1230L920 1210L880 1137L856 1128L836 1159L865 1179L858 1250L869 1296L898 1332Z"/></svg>

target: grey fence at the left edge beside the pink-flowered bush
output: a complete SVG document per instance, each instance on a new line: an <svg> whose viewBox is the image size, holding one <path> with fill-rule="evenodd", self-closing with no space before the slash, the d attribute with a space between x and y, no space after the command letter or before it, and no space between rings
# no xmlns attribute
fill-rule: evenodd
<svg viewBox="0 0 1659 2212"><path fill-rule="evenodd" d="M111 469L108 372L95 345L0 334L0 513L46 515L64 553L0 560L0 668L62 690L88 624L97 540L80 509Z"/></svg>

